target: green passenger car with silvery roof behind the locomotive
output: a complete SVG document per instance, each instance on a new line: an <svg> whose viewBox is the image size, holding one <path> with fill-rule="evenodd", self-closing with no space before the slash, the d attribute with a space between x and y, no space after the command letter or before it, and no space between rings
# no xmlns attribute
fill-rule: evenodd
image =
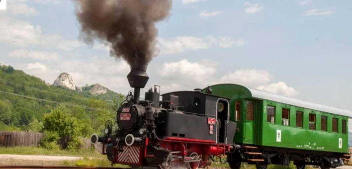
<svg viewBox="0 0 352 169"><path fill-rule="evenodd" d="M240 161L297 168L306 164L334 167L349 158L348 118L352 112L309 103L235 84L209 86L212 95L230 99L230 120L237 123L234 143L241 150L228 155L231 168ZM204 89L203 92L207 90Z"/></svg>

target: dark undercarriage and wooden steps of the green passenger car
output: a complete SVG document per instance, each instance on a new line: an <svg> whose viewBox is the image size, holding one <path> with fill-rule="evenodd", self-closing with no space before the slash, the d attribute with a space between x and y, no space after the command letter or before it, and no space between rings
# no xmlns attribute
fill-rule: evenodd
<svg viewBox="0 0 352 169"><path fill-rule="evenodd" d="M228 163L232 169L240 168L241 162L255 164L258 169L265 169L269 164L296 165L303 169L306 165L319 166L322 169L335 168L351 160L347 153L329 153L290 148L260 147L241 145L241 149L228 153Z"/></svg>

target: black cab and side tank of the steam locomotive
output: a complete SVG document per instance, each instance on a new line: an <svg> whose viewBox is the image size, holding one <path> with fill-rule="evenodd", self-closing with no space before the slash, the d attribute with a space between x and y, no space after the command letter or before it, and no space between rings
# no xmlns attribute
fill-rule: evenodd
<svg viewBox="0 0 352 169"><path fill-rule="evenodd" d="M213 140L223 144L233 142L236 123L229 121L229 99L198 90L172 92L161 96L162 107L183 112L159 113L157 133L161 136ZM166 104L170 102L172 104Z"/></svg>

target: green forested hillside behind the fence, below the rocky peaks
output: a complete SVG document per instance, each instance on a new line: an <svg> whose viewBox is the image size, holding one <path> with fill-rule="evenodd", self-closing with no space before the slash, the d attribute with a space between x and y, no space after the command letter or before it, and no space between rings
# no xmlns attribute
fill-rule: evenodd
<svg viewBox="0 0 352 169"><path fill-rule="evenodd" d="M12 66L0 65L0 130L43 131L45 117L59 111L81 128L79 135L102 133L107 120L116 116L124 96L109 92L94 96L47 85L44 80ZM80 127L79 127L80 126ZM48 127L48 126L47 126Z"/></svg>

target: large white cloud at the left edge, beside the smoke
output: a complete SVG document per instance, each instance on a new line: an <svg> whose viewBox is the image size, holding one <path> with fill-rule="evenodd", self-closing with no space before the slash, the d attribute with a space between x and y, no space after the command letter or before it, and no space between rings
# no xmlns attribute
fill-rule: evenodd
<svg viewBox="0 0 352 169"><path fill-rule="evenodd" d="M65 40L60 35L45 35L42 33L39 25L31 25L27 21L19 21L0 17L0 42L12 45L27 47L37 45L47 48L57 48L62 50L71 50L72 48L83 46L76 40Z"/></svg>

